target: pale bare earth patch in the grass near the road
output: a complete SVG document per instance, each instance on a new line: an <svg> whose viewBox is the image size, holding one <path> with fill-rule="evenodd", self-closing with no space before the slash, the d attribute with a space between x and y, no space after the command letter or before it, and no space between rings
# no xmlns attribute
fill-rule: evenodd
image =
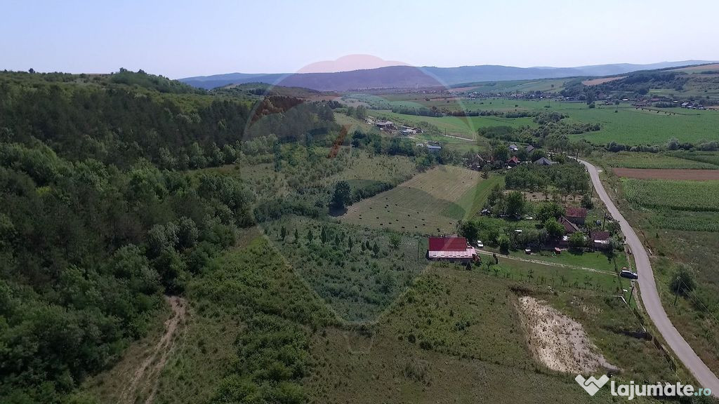
<svg viewBox="0 0 719 404"><path fill-rule="evenodd" d="M542 300L519 298L530 349L549 369L567 373L591 373L599 369L616 372L597 352L582 325Z"/></svg>

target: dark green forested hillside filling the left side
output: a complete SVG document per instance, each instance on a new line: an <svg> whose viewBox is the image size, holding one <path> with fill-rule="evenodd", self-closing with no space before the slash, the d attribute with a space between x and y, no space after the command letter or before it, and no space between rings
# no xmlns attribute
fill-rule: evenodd
<svg viewBox="0 0 719 404"><path fill-rule="evenodd" d="M255 102L142 71L0 73L1 403L63 403L254 223L239 176L188 169L338 132L326 104Z"/></svg>

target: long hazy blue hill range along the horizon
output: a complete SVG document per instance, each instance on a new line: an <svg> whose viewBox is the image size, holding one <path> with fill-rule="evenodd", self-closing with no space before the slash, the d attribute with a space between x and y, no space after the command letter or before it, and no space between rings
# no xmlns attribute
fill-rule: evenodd
<svg viewBox="0 0 719 404"><path fill-rule="evenodd" d="M577 76L618 75L637 70L672 68L711 63L705 60L682 60L648 65L619 63L576 68L516 68L501 65L461 66L457 68L389 66L385 68L352 70L337 73L228 73L181 78L180 81L198 88L217 88L229 84L268 83L289 87L304 87L319 91L348 91L365 88L413 88L452 86L480 81L533 80Z"/></svg>

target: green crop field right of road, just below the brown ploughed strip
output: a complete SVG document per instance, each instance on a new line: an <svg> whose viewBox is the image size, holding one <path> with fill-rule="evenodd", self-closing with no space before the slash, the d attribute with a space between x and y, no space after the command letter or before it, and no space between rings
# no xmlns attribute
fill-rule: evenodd
<svg viewBox="0 0 719 404"><path fill-rule="evenodd" d="M622 179L627 201L646 208L719 211L719 181Z"/></svg>

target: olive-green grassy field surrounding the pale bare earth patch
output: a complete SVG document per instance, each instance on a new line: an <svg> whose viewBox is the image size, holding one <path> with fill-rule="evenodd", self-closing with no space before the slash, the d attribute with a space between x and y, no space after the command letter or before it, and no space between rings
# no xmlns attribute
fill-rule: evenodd
<svg viewBox="0 0 719 404"><path fill-rule="evenodd" d="M306 378L313 402L612 402L607 390L590 398L572 376L533 360L516 310L518 294L535 295L580 321L623 369L618 380L676 378L651 342L625 333L639 324L620 300L590 290L547 293L546 285L461 268L429 267L370 329L316 333L311 352L317 371Z"/></svg>

